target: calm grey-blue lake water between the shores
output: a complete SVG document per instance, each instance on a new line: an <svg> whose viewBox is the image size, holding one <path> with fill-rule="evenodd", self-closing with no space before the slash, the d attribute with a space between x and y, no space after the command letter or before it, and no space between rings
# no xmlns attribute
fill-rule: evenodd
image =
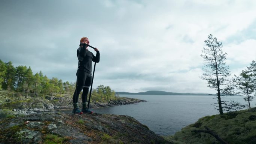
<svg viewBox="0 0 256 144"><path fill-rule="evenodd" d="M119 105L115 107L92 108L96 113L119 114L134 117L158 135L174 135L183 127L195 123L199 118L219 114L214 110L217 102L214 96L193 95L119 95L143 99L147 102ZM242 96L226 96L222 100L247 104ZM252 101L251 107L256 102Z"/></svg>

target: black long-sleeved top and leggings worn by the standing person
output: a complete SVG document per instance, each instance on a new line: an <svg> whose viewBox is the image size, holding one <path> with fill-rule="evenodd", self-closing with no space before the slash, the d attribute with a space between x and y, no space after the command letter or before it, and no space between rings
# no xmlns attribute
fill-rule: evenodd
<svg viewBox="0 0 256 144"><path fill-rule="evenodd" d="M92 52L86 50L85 47L82 47L77 49L76 55L79 60L79 67L76 73L77 87L73 95L73 104L77 103L79 94L82 89L82 101L83 103L87 101L89 86L91 86L92 82L92 61L100 62L100 51L97 51L96 56L94 56Z"/></svg>

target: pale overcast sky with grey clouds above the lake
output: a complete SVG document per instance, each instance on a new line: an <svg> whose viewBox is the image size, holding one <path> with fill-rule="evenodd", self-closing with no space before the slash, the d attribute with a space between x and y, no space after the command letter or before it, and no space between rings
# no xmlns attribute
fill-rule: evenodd
<svg viewBox="0 0 256 144"><path fill-rule="evenodd" d="M75 82L76 50L88 37L101 54L93 88L216 93L199 78L209 34L239 74L256 60L256 1L0 0L2 61Z"/></svg>

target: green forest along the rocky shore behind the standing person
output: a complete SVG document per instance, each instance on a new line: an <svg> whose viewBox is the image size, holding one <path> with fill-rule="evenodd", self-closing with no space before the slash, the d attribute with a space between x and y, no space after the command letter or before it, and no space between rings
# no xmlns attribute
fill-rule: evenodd
<svg viewBox="0 0 256 144"><path fill-rule="evenodd" d="M73 96L76 83L63 82L56 77L48 79L42 71L33 74L30 67L19 65L14 67L12 62L0 59L0 90L30 93L37 96L67 94ZM109 86L100 85L92 91L92 100L109 101L116 99L115 91Z"/></svg>

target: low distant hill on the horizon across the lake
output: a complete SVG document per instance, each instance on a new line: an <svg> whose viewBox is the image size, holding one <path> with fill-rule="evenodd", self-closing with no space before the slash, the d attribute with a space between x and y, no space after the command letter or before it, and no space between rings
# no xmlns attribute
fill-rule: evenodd
<svg viewBox="0 0 256 144"><path fill-rule="evenodd" d="M177 92L165 92L165 91L146 91L146 92L116 92L119 95L211 95L211 94L193 94L193 93L177 93Z"/></svg>

